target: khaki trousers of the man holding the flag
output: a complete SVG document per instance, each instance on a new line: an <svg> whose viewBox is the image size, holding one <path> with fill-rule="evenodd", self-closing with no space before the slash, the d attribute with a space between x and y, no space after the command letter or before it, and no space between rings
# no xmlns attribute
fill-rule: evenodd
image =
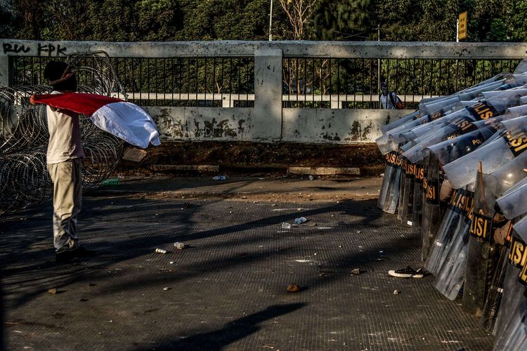
<svg viewBox="0 0 527 351"><path fill-rule="evenodd" d="M53 182L53 244L55 249L78 245L77 215L82 204L81 159L48 164Z"/></svg>

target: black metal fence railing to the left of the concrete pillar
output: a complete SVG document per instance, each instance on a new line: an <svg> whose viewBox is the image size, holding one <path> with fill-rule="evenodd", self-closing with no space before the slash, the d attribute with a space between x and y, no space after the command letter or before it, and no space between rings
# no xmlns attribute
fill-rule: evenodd
<svg viewBox="0 0 527 351"><path fill-rule="evenodd" d="M13 84L47 84L43 72L49 60L13 58ZM138 105L254 106L254 58L110 58L110 62L127 98ZM91 58L77 64L93 67ZM83 74L77 77L80 86L93 81ZM113 95L124 98L123 93Z"/></svg>

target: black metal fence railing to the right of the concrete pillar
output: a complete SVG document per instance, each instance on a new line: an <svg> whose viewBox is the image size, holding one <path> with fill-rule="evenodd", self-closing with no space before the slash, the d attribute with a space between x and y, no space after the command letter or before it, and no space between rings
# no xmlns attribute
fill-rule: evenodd
<svg viewBox="0 0 527 351"><path fill-rule="evenodd" d="M406 107L513 72L520 60L284 58L283 107L379 108L383 79Z"/></svg>

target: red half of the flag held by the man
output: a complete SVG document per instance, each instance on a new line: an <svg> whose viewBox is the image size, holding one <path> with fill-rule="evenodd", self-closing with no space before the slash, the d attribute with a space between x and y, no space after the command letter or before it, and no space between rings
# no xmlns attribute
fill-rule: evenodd
<svg viewBox="0 0 527 351"><path fill-rule="evenodd" d="M93 112L96 112L104 105L108 105L112 102L122 102L123 100L97 94L63 93L33 95L32 101L37 104L45 104L51 107L70 110L90 116Z"/></svg>

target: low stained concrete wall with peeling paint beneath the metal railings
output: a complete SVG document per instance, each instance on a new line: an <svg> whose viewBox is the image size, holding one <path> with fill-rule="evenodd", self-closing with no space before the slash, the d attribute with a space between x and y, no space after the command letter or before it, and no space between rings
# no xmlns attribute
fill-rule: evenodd
<svg viewBox="0 0 527 351"><path fill-rule="evenodd" d="M381 127L410 110L283 109L282 121L265 119L261 138L252 108L145 107L166 141L267 141L287 143L373 143ZM262 122L261 125L264 123ZM277 128L278 127L278 128ZM270 132L274 131L273 134Z"/></svg>

